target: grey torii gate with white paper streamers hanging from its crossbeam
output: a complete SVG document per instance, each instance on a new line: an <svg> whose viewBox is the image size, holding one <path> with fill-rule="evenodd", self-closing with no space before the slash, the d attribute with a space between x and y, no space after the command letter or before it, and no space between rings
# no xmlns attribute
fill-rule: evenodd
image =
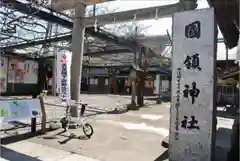
<svg viewBox="0 0 240 161"><path fill-rule="evenodd" d="M82 60L84 52L85 27L132 21L162 18L175 12L192 10L197 7L196 0L180 0L176 4L110 13L100 16L85 17L86 5L103 3L108 0L53 0L52 7L57 11L75 8L74 27L72 34L72 65L71 65L71 98L80 101ZM79 73L76 74L76 73ZM75 110L75 115L77 110Z"/></svg>

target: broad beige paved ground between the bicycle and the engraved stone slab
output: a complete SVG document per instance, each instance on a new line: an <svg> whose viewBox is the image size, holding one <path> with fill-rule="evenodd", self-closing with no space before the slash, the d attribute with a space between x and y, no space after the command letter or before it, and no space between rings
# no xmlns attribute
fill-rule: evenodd
<svg viewBox="0 0 240 161"><path fill-rule="evenodd" d="M69 134L55 131L30 141L101 161L153 161L166 150L161 140L168 135L168 111L168 105L155 105L138 112L98 115L91 120L95 133L89 140L69 140ZM83 136L81 129L71 132Z"/></svg>

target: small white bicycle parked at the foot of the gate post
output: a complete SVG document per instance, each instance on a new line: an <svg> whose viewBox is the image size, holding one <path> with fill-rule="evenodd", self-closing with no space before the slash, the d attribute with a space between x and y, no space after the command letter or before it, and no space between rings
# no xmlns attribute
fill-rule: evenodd
<svg viewBox="0 0 240 161"><path fill-rule="evenodd" d="M85 119L83 118L83 115L85 113L85 109L88 106L88 104L83 104L83 103L79 103L81 105L81 110L80 110L80 124L76 124L76 128L80 128L82 127L83 129L83 133L88 137L91 138L91 136L94 133L93 127L92 125L90 125L89 123L87 123L85 121ZM68 104L67 105L67 109L66 109L66 116L63 117L60 120L60 123L62 124L62 128L67 131L69 128L70 124L74 124L74 122L71 121L71 116L70 116L70 109L71 109L71 105Z"/></svg>

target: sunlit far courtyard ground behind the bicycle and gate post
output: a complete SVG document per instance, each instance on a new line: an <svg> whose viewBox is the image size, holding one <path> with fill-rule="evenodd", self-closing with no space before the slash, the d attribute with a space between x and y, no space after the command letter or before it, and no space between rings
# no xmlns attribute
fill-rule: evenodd
<svg viewBox="0 0 240 161"><path fill-rule="evenodd" d="M29 96L1 97L0 99L9 98L29 98ZM110 94L81 94L81 101L89 105L86 108L86 115L97 115L112 111L115 108L126 108L126 105L131 102L131 97ZM47 96L44 98L44 103L48 120L62 118L64 116L65 108L61 105L58 97ZM145 100L145 103L155 104L155 101Z"/></svg>

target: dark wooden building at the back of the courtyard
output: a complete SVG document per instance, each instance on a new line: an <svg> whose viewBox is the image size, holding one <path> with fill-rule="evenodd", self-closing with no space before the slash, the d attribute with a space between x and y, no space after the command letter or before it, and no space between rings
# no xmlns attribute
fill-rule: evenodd
<svg viewBox="0 0 240 161"><path fill-rule="evenodd" d="M84 77L88 77L89 93L111 93L130 95L131 83L128 79L130 68L121 68L113 74L107 68L91 68ZM150 67L145 79L145 96L154 95L156 75L161 74L162 80L170 82L170 70L162 67Z"/></svg>

